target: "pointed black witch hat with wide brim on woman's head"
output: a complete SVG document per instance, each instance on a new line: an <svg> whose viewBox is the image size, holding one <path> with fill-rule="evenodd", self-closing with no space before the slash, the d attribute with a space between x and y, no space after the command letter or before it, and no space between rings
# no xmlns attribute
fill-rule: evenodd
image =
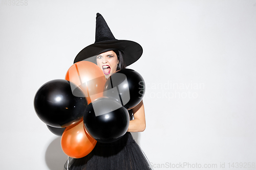
<svg viewBox="0 0 256 170"><path fill-rule="evenodd" d="M83 48L76 56L74 63L82 60L92 61L91 57L111 50L123 52L126 66L137 61L143 51L141 45L137 42L116 39L103 16L97 13L95 42Z"/></svg>

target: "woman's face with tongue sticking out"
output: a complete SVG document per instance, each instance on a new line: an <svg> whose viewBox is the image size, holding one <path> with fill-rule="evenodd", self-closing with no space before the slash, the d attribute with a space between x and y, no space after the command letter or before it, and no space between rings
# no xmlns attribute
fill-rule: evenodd
<svg viewBox="0 0 256 170"><path fill-rule="evenodd" d="M117 64L119 62L116 53L113 51L101 53L97 56L96 61L97 65L103 71L106 79L116 71Z"/></svg>

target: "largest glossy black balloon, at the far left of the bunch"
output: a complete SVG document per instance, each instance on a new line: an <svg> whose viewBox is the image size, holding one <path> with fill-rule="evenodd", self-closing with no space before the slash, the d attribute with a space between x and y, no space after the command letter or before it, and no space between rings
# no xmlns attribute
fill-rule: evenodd
<svg viewBox="0 0 256 170"><path fill-rule="evenodd" d="M74 89L73 93L71 89ZM55 128L65 128L79 122L87 107L82 91L67 80L52 80L35 94L34 108L42 122Z"/></svg>

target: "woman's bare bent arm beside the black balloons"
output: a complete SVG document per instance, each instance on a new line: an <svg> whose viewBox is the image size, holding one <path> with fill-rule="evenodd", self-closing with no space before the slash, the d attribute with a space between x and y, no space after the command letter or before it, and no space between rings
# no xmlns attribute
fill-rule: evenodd
<svg viewBox="0 0 256 170"><path fill-rule="evenodd" d="M130 120L127 132L143 132L146 128L146 119L143 101L133 108L134 120Z"/></svg>

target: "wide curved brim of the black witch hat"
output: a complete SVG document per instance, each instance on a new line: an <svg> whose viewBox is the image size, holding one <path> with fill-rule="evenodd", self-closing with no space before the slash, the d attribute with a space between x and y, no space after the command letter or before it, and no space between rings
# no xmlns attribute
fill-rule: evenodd
<svg viewBox="0 0 256 170"><path fill-rule="evenodd" d="M108 40L91 44L83 48L76 56L74 63L89 59L101 53L111 50L120 50L124 54L125 65L131 65L136 62L142 55L140 44L130 40ZM89 60L90 61L90 60Z"/></svg>

